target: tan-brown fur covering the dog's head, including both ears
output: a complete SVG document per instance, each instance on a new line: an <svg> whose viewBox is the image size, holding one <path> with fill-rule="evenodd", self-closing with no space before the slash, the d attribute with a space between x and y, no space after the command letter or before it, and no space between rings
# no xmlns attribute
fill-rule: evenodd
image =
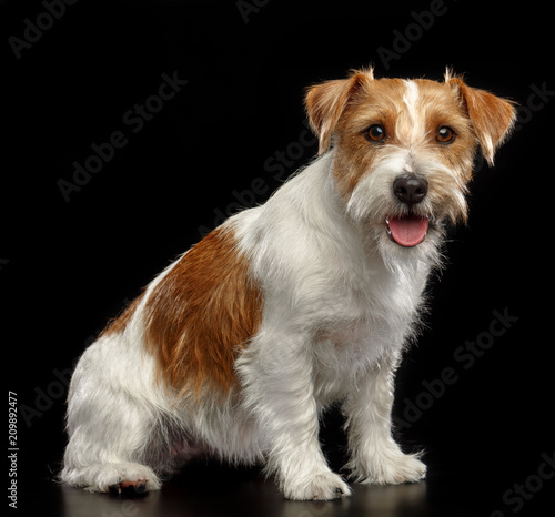
<svg viewBox="0 0 555 517"><path fill-rule="evenodd" d="M330 148L332 140L336 144L333 174L343 199L351 196L391 146L433 153L456 171L461 184L472 176L477 143L487 161L493 162L495 149L514 122L512 103L470 88L451 73L444 83L425 79L413 82L417 87L415 102L405 102L405 81L376 80L372 70L355 70L347 79L326 81L309 90L306 111L320 138L320 153ZM372 124L383 125L383 144L365 138ZM442 125L454 130L453 144L442 146L435 140Z"/></svg>

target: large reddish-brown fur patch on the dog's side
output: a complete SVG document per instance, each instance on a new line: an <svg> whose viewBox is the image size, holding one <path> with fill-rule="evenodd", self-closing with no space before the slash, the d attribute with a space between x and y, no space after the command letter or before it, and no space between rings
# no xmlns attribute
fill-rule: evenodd
<svg viewBox="0 0 555 517"><path fill-rule="evenodd" d="M234 361L261 322L262 300L233 231L219 227L183 255L149 296L148 348L172 387L229 393Z"/></svg>

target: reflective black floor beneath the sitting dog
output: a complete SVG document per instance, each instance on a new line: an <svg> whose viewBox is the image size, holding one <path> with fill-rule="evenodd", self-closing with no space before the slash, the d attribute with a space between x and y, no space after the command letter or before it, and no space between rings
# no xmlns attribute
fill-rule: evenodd
<svg viewBox="0 0 555 517"><path fill-rule="evenodd" d="M60 517L502 517L514 508L502 503L495 484L466 483L448 475L431 475L418 484L398 486L352 485L353 495L335 501L289 501L273 480L256 468L195 465L169 479L162 490L142 498L123 499L41 481L32 493L20 494L21 515ZM482 478L483 479L483 478ZM552 487L545 487L544 496ZM493 495L488 498L487 495ZM539 509L539 498L526 503L518 516L553 515ZM542 508L545 506L542 505Z"/></svg>

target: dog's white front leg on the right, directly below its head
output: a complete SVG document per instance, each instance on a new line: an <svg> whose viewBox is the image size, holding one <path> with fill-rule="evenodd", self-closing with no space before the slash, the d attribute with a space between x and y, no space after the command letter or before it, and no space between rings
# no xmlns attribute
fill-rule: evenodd
<svg viewBox="0 0 555 517"><path fill-rule="evenodd" d="M392 436L391 412L398 352L376 363L344 402L354 480L379 485L414 483L425 477L417 454L404 454Z"/></svg>

